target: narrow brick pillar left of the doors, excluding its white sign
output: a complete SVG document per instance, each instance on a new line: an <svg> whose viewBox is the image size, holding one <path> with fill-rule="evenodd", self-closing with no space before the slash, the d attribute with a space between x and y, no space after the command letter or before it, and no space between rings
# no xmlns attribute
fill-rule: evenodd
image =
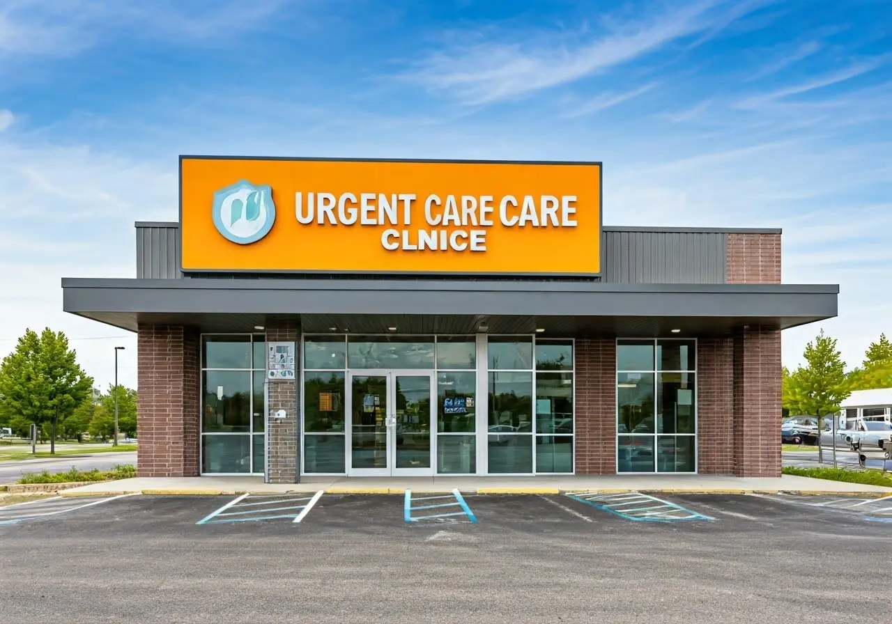
<svg viewBox="0 0 892 624"><path fill-rule="evenodd" d="M300 328L293 322L269 320L267 322L267 340L294 342L295 358L301 357L298 353L300 337ZM299 369L300 366L295 368ZM298 444L301 441L301 430L297 380L267 379L267 387L267 482L299 483L301 455ZM280 409L284 409L287 416L281 419L272 418L271 415Z"/></svg>

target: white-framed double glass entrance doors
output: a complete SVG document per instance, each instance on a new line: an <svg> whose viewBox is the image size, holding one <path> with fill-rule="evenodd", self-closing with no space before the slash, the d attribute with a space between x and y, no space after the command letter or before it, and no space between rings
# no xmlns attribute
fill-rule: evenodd
<svg viewBox="0 0 892 624"><path fill-rule="evenodd" d="M429 475L434 374L350 374L351 476Z"/></svg>

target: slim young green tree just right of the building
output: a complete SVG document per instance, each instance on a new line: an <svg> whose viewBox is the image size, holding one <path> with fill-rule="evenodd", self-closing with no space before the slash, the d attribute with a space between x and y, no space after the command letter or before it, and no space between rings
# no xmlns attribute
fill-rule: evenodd
<svg viewBox="0 0 892 624"><path fill-rule="evenodd" d="M789 400L803 414L817 416L820 433L822 417L836 414L839 404L848 398L852 390L846 375L846 363L842 361L835 338L825 336L821 330L814 341L809 341L805 346L804 355L805 367L799 366L790 375ZM818 461L823 461L820 441Z"/></svg>

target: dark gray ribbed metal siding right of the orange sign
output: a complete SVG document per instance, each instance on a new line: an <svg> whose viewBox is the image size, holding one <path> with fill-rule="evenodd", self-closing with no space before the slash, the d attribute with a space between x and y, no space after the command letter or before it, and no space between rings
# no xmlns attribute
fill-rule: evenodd
<svg viewBox="0 0 892 624"><path fill-rule="evenodd" d="M608 283L724 283L728 234L604 228Z"/></svg>

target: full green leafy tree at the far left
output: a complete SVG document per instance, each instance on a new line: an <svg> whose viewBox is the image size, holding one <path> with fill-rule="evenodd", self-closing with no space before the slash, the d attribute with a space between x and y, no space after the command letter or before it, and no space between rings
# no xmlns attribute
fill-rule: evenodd
<svg viewBox="0 0 892 624"><path fill-rule="evenodd" d="M68 338L48 327L39 335L26 330L15 350L0 363L4 411L37 424L38 430L50 423L54 432L60 419L70 415L92 387L93 379L78 365ZM55 435L50 444L54 454Z"/></svg>

